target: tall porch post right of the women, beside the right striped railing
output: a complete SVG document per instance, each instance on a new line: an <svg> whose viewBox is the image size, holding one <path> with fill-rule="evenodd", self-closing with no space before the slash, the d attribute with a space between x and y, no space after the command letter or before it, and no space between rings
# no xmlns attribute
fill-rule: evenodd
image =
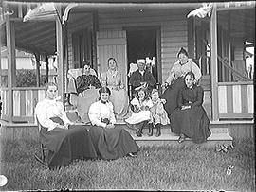
<svg viewBox="0 0 256 192"><path fill-rule="evenodd" d="M218 59L217 59L217 11L216 3L213 3L210 17L210 87L211 87L211 106L212 120L219 119L218 105Z"/></svg>

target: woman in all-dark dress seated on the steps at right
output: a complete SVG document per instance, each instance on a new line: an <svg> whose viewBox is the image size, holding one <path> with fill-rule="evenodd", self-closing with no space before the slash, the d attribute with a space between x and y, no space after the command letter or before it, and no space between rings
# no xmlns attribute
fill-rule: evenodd
<svg viewBox="0 0 256 192"><path fill-rule="evenodd" d="M186 137L194 143L202 143L210 136L210 120L202 106L204 90L195 84L192 72L186 74L185 84L186 87L178 93L178 108L171 114L171 128L180 135L179 143Z"/></svg>

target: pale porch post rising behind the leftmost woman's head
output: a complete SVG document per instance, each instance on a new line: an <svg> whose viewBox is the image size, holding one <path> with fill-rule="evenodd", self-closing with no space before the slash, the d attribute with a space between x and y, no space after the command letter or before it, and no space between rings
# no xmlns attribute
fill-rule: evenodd
<svg viewBox="0 0 256 192"><path fill-rule="evenodd" d="M61 8L58 7L58 14L61 17ZM57 84L58 94L64 103L64 33L60 18L56 16L56 44L57 44Z"/></svg>

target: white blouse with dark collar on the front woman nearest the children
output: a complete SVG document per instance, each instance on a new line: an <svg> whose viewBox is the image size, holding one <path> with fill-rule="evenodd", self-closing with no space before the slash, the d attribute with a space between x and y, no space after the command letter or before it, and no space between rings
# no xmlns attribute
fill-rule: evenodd
<svg viewBox="0 0 256 192"><path fill-rule="evenodd" d="M101 101L97 101L91 104L88 115L92 125L105 128L106 123L101 122L101 118L108 118L111 124L116 123L114 108L111 102L104 104Z"/></svg>

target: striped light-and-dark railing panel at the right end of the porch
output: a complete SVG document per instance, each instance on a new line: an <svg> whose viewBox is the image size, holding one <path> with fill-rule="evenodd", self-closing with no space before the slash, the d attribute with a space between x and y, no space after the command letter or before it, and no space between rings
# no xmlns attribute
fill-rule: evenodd
<svg viewBox="0 0 256 192"><path fill-rule="evenodd" d="M220 118L252 118L253 96L252 82L219 83Z"/></svg>

